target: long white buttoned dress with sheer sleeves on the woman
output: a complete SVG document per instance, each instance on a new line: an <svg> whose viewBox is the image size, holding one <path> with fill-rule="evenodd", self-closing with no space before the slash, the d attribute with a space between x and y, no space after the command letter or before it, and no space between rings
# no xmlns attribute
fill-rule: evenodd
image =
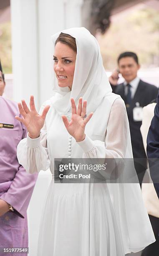
<svg viewBox="0 0 159 256"><path fill-rule="evenodd" d="M50 105L40 137L27 137L18 145L18 160L27 172L50 167L53 174L41 218L38 256L124 256L133 251L128 250L129 238L127 248L124 245L106 183L54 183L54 158L124 158L126 109L120 97L114 99L113 104L106 98L101 102L86 125L85 140L78 143L48 100L41 108ZM110 108L108 120L105 108Z"/></svg>

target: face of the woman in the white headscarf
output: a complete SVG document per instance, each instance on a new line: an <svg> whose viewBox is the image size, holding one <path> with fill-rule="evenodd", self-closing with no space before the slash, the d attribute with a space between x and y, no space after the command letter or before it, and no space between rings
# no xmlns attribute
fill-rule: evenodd
<svg viewBox="0 0 159 256"><path fill-rule="evenodd" d="M53 55L54 72L58 79L59 87L70 87L72 89L73 76L76 63L76 52L67 44L58 42Z"/></svg>

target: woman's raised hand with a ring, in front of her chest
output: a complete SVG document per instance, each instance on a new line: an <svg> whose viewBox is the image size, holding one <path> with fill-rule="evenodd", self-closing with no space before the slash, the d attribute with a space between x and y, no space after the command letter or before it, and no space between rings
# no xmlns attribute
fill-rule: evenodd
<svg viewBox="0 0 159 256"><path fill-rule="evenodd" d="M62 116L63 123L71 136L75 138L77 142L83 141L85 139L86 134L84 133L86 124L91 119L93 113L90 113L87 118L82 118L82 116L86 115L87 109L87 101L83 101L82 105L82 97L79 99L78 108L76 109L76 104L73 98L71 98L72 105L72 117L69 122L65 115Z"/></svg>

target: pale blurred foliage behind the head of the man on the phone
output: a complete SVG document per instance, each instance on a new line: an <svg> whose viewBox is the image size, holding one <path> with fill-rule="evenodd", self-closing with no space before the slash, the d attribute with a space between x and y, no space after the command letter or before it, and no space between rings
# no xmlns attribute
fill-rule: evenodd
<svg viewBox="0 0 159 256"><path fill-rule="evenodd" d="M107 70L116 67L123 51L134 51L143 67L159 66L159 11L143 8L120 15L109 30L99 36L103 64Z"/></svg>

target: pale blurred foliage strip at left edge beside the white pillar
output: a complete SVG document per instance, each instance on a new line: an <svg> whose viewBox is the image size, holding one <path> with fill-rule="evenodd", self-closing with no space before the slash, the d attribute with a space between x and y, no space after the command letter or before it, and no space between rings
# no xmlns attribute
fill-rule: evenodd
<svg viewBox="0 0 159 256"><path fill-rule="evenodd" d="M0 60L3 73L12 73L11 24L0 24Z"/></svg>

